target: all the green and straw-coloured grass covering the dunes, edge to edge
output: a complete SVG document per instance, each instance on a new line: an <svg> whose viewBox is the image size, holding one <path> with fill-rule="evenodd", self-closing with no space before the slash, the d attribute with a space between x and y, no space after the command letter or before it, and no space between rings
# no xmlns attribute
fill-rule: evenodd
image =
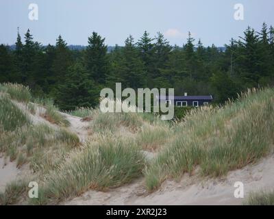
<svg viewBox="0 0 274 219"><path fill-rule="evenodd" d="M223 107L188 110L182 121L167 122L153 114L106 113L98 108L80 108L75 113L90 116L92 141L79 146L79 138L64 125L58 109L41 101L55 125L32 124L32 113L19 109L10 94L0 101L0 152L21 168L29 164L39 181L39 198L29 200L24 181L12 182L0 194L0 203L51 204L79 196L87 190L108 190L145 176L147 190L157 189L166 179L180 179L193 170L205 177L219 177L242 168L271 152L274 142L274 90L249 90ZM36 103L32 103L37 105ZM6 115L12 115L7 120ZM38 115L36 115L38 116ZM58 121L58 122L56 122ZM133 133L116 135L119 128ZM120 130L121 131L121 130ZM157 152L145 159L144 151ZM271 201L267 198L250 199ZM250 202L251 202L250 201Z"/></svg>

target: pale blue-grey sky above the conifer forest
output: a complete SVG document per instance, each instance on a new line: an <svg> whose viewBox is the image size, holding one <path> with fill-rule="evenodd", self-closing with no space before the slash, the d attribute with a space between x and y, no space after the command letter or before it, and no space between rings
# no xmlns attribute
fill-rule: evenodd
<svg viewBox="0 0 274 219"><path fill-rule="evenodd" d="M29 19L31 3L38 20ZM237 3L243 20L234 18L242 15ZM274 25L273 10L273 0L0 0L0 44L14 44L19 27L22 37L29 28L42 44L61 35L68 44L86 45L96 31L109 46L123 45L129 34L137 41L147 30L152 38L160 31L172 45L182 46L190 31L195 42L221 47L248 25L258 31L263 22Z"/></svg>

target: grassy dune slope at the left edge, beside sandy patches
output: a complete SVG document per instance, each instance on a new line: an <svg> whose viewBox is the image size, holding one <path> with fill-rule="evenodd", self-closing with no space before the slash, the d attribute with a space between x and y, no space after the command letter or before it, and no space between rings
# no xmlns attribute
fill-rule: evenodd
<svg viewBox="0 0 274 219"><path fill-rule="evenodd" d="M27 90L24 86L12 83L1 84L1 88L3 87L5 92L14 88ZM34 171L48 171L64 159L65 152L79 145L77 135L64 128L53 129L43 123L32 124L27 111L19 109L10 98L10 94L2 93L0 96L0 152L8 155L11 161L16 160L18 168L29 163ZM18 101L18 98L14 99ZM32 105L29 113L36 107L30 102L24 104L26 110ZM58 120L60 121L60 118ZM62 117L62 123L59 124L63 124L63 120Z"/></svg>

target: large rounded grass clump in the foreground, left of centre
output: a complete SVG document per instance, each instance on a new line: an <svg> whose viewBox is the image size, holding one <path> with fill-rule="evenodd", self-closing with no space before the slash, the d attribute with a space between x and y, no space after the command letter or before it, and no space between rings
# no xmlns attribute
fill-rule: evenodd
<svg viewBox="0 0 274 219"><path fill-rule="evenodd" d="M140 177L145 158L134 146L127 144L106 136L99 143L87 143L82 151L73 153L47 177L43 196L36 203L56 203L89 189L106 190Z"/></svg>

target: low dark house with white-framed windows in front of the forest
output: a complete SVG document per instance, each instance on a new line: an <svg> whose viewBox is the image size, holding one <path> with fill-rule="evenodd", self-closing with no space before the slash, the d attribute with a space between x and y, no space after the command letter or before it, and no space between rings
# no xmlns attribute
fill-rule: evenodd
<svg viewBox="0 0 274 219"><path fill-rule="evenodd" d="M159 101L171 104L174 100L174 105L177 107L199 107L202 105L209 105L212 102L212 96L188 96L184 93L184 96L160 96Z"/></svg>

